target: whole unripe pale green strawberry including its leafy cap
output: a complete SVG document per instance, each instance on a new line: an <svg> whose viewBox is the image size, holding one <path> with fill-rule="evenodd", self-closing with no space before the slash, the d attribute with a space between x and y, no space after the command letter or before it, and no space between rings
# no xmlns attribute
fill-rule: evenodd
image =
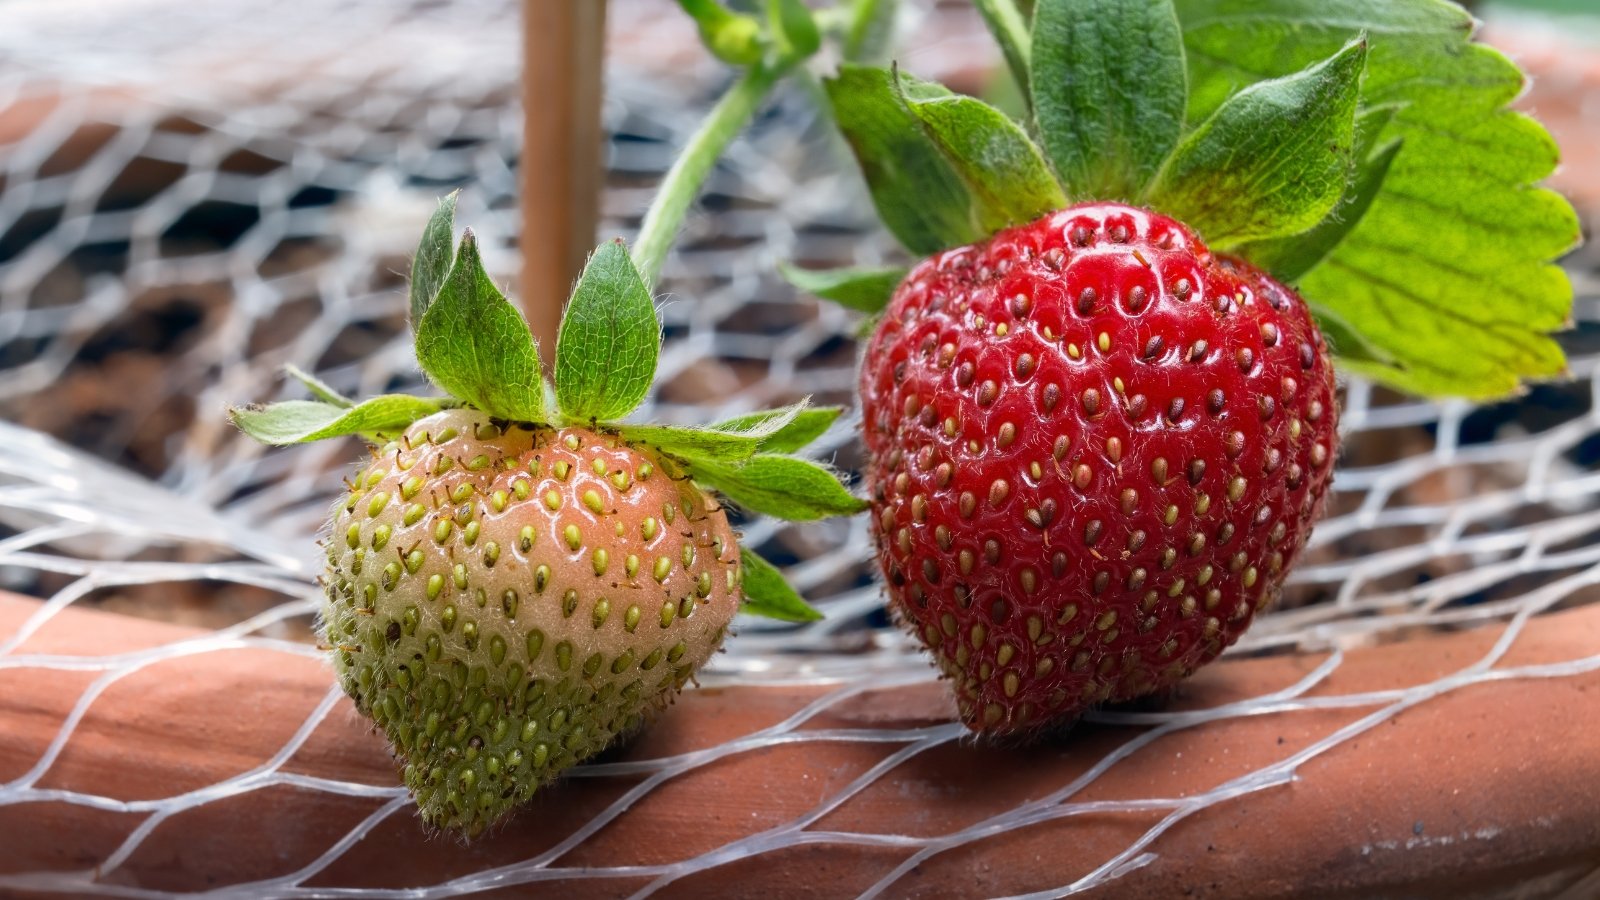
<svg viewBox="0 0 1600 900"><path fill-rule="evenodd" d="M323 641L422 820L472 836L643 725L741 609L821 618L739 546L709 490L779 519L866 504L792 455L838 408L621 421L661 351L650 287L621 242L602 243L573 288L552 384L472 232L456 247L453 227L446 197L411 272L418 364L450 397L354 400L290 368L315 400L230 416L267 444L382 444L333 509Z"/></svg>

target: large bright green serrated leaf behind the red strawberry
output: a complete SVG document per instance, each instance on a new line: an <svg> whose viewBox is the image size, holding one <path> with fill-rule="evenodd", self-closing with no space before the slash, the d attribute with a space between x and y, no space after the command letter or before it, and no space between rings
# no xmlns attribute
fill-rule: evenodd
<svg viewBox="0 0 1600 900"><path fill-rule="evenodd" d="M1405 141L1349 235L1299 280L1397 365L1350 367L1419 394L1493 397L1557 375L1573 291L1550 259L1578 239L1566 200L1536 189L1555 167L1539 123L1506 109L1523 77L1472 43L1440 0L1178 0L1203 119L1242 85L1371 38L1363 106L1394 106Z"/></svg>

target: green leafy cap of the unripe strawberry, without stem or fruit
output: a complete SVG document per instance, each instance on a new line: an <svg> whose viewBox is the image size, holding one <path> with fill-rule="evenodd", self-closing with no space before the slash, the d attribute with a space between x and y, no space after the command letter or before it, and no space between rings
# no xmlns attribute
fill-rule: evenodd
<svg viewBox="0 0 1600 900"><path fill-rule="evenodd" d="M838 476L797 453L827 431L837 407L800 400L709 426L622 421L648 396L661 348L661 322L645 279L624 245L602 243L589 258L562 317L554 383L522 314L483 267L467 231L459 247L454 195L424 231L411 277L411 330L424 375L446 396L384 394L352 400L304 372L290 370L317 397L229 410L234 423L267 444L363 436L382 444L442 410L470 408L525 429L582 428L638 447L678 477L736 504L789 520L859 512ZM746 559L754 554L746 552ZM771 570L766 564L762 572ZM771 570L776 572L776 570ZM755 578L746 612L784 620L819 618L782 578Z"/></svg>

